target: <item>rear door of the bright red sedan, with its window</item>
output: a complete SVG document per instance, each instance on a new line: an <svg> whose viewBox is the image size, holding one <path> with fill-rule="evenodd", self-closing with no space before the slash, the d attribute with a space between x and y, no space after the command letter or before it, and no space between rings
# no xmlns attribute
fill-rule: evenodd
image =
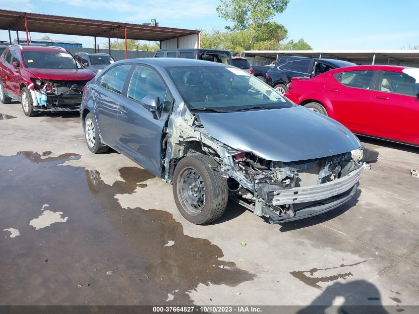
<svg viewBox="0 0 419 314"><path fill-rule="evenodd" d="M369 121L371 97L374 93L374 72L347 71L329 75L324 96L333 107L332 118L353 132L364 133L373 123Z"/></svg>

